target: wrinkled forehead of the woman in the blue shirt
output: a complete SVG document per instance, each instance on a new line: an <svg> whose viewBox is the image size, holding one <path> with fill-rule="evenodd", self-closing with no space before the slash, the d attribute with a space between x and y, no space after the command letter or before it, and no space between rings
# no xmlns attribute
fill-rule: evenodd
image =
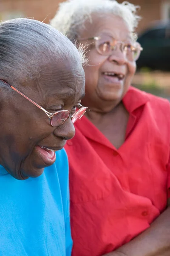
<svg viewBox="0 0 170 256"><path fill-rule="evenodd" d="M81 61L76 58L53 58L41 67L35 90L48 97L77 100L84 94L85 75Z"/></svg>

